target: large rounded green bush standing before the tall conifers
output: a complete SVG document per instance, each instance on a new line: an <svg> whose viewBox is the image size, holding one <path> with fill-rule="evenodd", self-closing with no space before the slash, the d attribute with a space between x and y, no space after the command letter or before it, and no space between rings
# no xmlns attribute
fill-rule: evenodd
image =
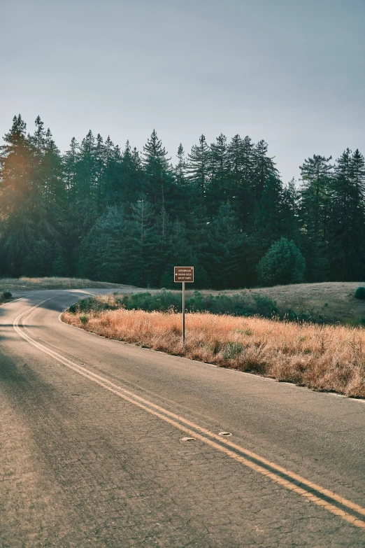
<svg viewBox="0 0 365 548"><path fill-rule="evenodd" d="M275 241L257 265L261 286L286 285L304 280L306 262L294 241Z"/></svg>

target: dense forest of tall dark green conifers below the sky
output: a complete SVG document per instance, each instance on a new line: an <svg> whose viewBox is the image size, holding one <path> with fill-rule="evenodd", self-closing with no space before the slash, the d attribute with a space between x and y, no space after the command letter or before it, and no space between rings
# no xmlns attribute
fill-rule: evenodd
<svg viewBox="0 0 365 548"><path fill-rule="evenodd" d="M0 276L80 276L198 288L365 279L365 162L359 150L303 160L282 183L265 141L201 135L171 162L88 132L60 153L20 115L0 148Z"/></svg>

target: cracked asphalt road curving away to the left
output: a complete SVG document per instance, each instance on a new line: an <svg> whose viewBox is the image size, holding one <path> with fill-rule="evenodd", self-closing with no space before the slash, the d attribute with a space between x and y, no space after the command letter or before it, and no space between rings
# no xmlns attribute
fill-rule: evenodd
<svg viewBox="0 0 365 548"><path fill-rule="evenodd" d="M364 401L62 323L88 291L0 307L1 548L365 547Z"/></svg>

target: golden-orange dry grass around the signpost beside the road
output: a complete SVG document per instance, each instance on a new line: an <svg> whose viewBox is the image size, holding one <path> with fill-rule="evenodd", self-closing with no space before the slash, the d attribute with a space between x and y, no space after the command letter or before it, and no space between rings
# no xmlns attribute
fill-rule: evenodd
<svg viewBox="0 0 365 548"><path fill-rule="evenodd" d="M110 339L365 398L363 328L187 314L183 348L180 314L118 309L88 316L65 312L63 319Z"/></svg>

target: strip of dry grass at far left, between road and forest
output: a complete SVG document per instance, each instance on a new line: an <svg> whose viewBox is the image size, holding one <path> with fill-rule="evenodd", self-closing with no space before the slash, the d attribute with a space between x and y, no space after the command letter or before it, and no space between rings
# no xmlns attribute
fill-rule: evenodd
<svg viewBox="0 0 365 548"><path fill-rule="evenodd" d="M79 278L0 278L0 293L3 291L22 291L32 289L84 289L84 288L120 288L117 283L92 281Z"/></svg>

